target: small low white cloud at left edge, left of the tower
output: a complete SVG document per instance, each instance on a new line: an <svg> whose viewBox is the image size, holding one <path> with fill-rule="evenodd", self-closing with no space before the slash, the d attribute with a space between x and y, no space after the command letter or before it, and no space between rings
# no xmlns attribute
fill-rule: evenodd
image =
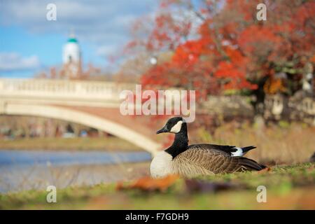
<svg viewBox="0 0 315 224"><path fill-rule="evenodd" d="M22 57L16 52L0 52L0 71L26 71L41 66L36 55Z"/></svg>

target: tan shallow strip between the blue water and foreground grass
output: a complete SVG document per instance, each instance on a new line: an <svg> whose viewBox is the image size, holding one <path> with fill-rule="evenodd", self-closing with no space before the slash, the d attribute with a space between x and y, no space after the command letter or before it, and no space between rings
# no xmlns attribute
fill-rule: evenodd
<svg viewBox="0 0 315 224"><path fill-rule="evenodd" d="M23 168L20 172L18 170L19 176L16 176L16 172L8 170L0 175L0 182L3 183L0 195L23 193L28 190L45 190L50 185L58 189L93 188L99 184L133 181L142 176L148 176L149 166L148 161L108 165L34 165ZM13 176L15 178L12 179ZM45 179L38 179L38 176L45 176ZM13 182L8 183L8 179Z"/></svg>

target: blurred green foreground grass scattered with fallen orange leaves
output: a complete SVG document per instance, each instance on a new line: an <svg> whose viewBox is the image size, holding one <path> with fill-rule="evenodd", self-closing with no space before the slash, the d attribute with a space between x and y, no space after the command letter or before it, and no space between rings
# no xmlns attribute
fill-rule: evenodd
<svg viewBox="0 0 315 224"><path fill-rule="evenodd" d="M45 191L0 195L0 209L315 209L315 165L272 167L269 172L246 172L200 177L202 183L230 183L230 190L188 190L179 179L166 192L116 190L116 184L57 190L57 203L46 202ZM256 200L258 186L267 188L267 202Z"/></svg>

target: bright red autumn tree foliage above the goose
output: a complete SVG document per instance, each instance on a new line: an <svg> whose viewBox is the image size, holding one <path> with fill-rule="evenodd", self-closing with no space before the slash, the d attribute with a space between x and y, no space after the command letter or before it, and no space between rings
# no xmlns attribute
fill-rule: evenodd
<svg viewBox="0 0 315 224"><path fill-rule="evenodd" d="M143 85L193 89L202 99L224 90L253 90L253 81L272 75L274 66L294 62L297 67L302 57L314 60L314 1L269 1L267 21L256 19L256 1L228 0L217 11L209 2L194 8L202 19L197 38L187 38L194 19L176 20L181 15L172 10L192 10L194 1L161 2L162 13L144 43L150 52L172 51L173 56L148 69Z"/></svg>

